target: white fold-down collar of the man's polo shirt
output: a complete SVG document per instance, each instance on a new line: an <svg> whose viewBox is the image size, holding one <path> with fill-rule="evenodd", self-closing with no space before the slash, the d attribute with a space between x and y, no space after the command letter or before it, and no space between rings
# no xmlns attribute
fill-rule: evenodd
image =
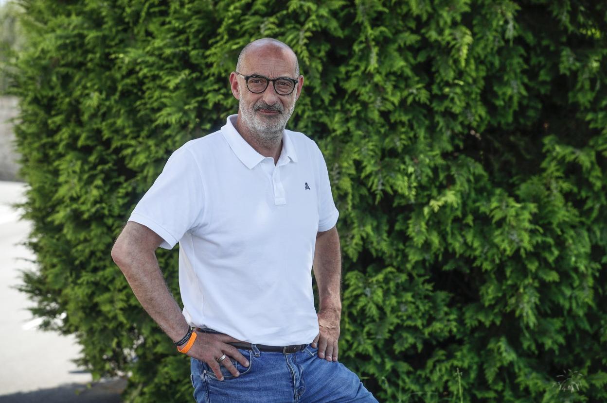
<svg viewBox="0 0 607 403"><path fill-rule="evenodd" d="M246 142L246 140L243 139L240 133L236 130L234 124L236 124L237 116L238 115L228 116L228 119L226 119L226 124L223 125L221 129L222 135L240 161L242 161L247 168L253 169L265 157L258 153L255 148L251 147L251 145ZM282 132L282 150L280 150L280 159L284 158L283 155L286 155L291 159L291 161L297 162L295 147L293 146L293 141L291 141L290 136L287 134L287 130Z"/></svg>

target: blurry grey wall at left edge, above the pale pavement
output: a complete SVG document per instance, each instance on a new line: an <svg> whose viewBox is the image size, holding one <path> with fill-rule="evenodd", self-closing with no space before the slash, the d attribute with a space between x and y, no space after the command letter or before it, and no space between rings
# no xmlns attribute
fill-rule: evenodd
<svg viewBox="0 0 607 403"><path fill-rule="evenodd" d="M19 164L15 151L15 133L8 119L17 116L17 98L0 96L0 181L18 181Z"/></svg>

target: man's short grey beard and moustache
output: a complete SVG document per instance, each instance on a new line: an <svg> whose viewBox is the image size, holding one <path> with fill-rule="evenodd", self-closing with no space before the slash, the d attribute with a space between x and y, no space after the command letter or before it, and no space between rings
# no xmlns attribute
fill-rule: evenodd
<svg viewBox="0 0 607 403"><path fill-rule="evenodd" d="M277 110L281 112L276 116L259 116L256 113L256 108L267 108L270 110ZM256 141L262 147L271 148L276 145L282 139L282 132L287 127L287 122L295 110L295 103L291 105L288 110L283 110L282 105L274 104L268 106L265 104L256 104L247 110L242 105L242 101L239 102L239 110L242 113L242 119L246 122L247 128L251 135L256 138Z"/></svg>

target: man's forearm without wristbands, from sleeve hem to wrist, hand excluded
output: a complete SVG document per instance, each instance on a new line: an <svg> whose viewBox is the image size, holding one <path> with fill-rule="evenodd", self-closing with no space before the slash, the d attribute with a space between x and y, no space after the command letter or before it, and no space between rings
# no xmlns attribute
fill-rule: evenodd
<svg viewBox="0 0 607 403"><path fill-rule="evenodd" d="M319 310L335 311L341 316L341 250L339 235L333 227L316 238L314 277L318 285Z"/></svg>

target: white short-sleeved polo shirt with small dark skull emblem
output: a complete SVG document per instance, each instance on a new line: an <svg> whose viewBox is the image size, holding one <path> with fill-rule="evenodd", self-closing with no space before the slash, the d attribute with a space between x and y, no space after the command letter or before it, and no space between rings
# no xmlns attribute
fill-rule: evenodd
<svg viewBox="0 0 607 403"><path fill-rule="evenodd" d="M129 221L163 248L179 242L190 325L254 344L310 343L316 233L339 216L327 165L316 142L285 130L275 166L236 131L236 117L178 148Z"/></svg>

